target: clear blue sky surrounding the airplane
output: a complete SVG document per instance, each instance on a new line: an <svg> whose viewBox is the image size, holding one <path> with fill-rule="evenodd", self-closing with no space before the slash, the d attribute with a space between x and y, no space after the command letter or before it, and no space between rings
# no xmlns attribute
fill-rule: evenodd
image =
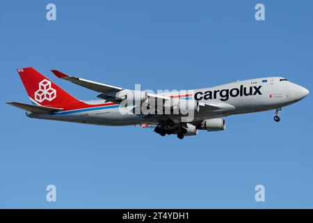
<svg viewBox="0 0 313 223"><path fill-rule="evenodd" d="M280 75L312 92L312 12L310 0L3 1L0 208L313 208L312 95L280 123L272 111L230 116L224 132L184 140L35 120L4 104L29 102L15 70L28 66L81 100L97 93L49 70L153 90Z"/></svg>

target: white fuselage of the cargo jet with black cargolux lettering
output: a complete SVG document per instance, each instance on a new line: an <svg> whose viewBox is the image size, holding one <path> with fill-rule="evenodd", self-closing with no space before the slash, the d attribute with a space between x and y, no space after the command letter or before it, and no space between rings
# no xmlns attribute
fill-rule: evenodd
<svg viewBox="0 0 313 223"><path fill-rule="evenodd" d="M278 109L305 98L308 93L307 89L291 83L283 77L264 77L223 84L207 89L189 90L188 94L191 97L186 99L198 100L198 102L203 104L225 102L231 105L229 108L216 110L205 106L200 107L200 111L195 112L193 121L201 121L207 118L230 116L232 114ZM178 91L177 94L183 95L186 94L186 91ZM171 95L171 93L163 95ZM93 103L99 104L103 102L104 100L93 101ZM119 105L97 109L78 109L56 114L35 114L30 112L26 112L26 114L31 118L95 125L157 124L168 117L175 122L179 122L181 118L179 115L138 115L131 112L131 108L129 108L127 114L121 114Z"/></svg>

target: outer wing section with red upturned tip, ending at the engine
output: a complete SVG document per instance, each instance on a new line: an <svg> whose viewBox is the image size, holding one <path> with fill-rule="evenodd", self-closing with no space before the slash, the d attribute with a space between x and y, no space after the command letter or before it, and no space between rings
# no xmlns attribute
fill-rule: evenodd
<svg viewBox="0 0 313 223"><path fill-rule="evenodd" d="M82 79L79 77L67 76L67 75L63 74L63 72L60 72L58 70L51 70L51 72L53 72L54 75L56 75L56 77L58 77L58 78L65 79L66 81L72 82L74 84L78 84L80 86L83 86L83 87L90 89L90 90L93 90L93 91L97 91L97 92L101 92L101 93L107 93L107 94L111 95L111 93L116 93L118 91L123 90L122 88L120 88L118 86L111 86L109 84L102 84L102 83L98 83L98 82L89 81L88 79Z"/></svg>

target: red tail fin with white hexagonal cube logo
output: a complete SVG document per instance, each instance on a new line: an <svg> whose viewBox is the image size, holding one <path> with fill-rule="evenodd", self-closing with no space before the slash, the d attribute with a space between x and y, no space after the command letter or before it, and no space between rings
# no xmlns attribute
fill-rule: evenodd
<svg viewBox="0 0 313 223"><path fill-rule="evenodd" d="M29 98L35 104L43 106L61 105L68 102L79 102L72 95L51 82L34 68L17 69Z"/></svg>

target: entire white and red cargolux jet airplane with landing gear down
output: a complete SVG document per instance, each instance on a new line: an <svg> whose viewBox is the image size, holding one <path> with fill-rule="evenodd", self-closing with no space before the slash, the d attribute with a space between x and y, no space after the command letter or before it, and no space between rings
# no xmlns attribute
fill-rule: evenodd
<svg viewBox="0 0 313 223"><path fill-rule="evenodd" d="M32 104L7 104L25 110L30 118L93 125L140 125L154 128L154 132L162 137L176 134L179 139L196 135L198 130L225 130L223 117L234 114L273 109L274 121L279 122L282 107L294 104L309 94L303 86L284 77L248 79L205 89L149 93L51 70L58 78L99 93L97 97L100 100L82 101L34 68L18 68L17 72Z"/></svg>

